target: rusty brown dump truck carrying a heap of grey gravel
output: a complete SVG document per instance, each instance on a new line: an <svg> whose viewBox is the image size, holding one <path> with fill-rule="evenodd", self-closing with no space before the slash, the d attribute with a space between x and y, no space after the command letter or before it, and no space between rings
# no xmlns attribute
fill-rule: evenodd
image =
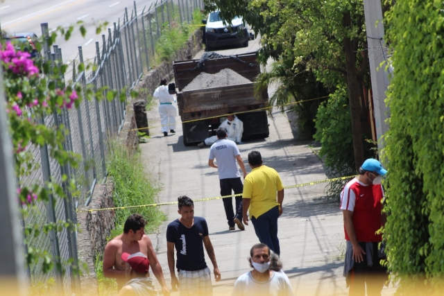
<svg viewBox="0 0 444 296"><path fill-rule="evenodd" d="M208 56L208 55L207 55ZM211 56L211 55L210 55ZM178 110L182 119L183 143L197 144L215 134L228 112L234 112L244 122L242 139L268 137L267 89L254 94L253 80L260 73L256 53L221 56L203 60L184 60L173 63ZM187 89L200 73L216 74L231 69L246 78L241 84ZM178 89L178 91L177 91ZM257 110L257 111L255 111Z"/></svg>

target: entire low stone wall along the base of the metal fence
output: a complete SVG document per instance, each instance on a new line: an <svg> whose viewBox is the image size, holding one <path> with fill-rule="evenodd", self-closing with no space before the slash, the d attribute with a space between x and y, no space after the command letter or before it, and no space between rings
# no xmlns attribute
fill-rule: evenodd
<svg viewBox="0 0 444 296"><path fill-rule="evenodd" d="M175 60L191 60L191 58L202 49L202 31L196 30L187 44L178 51ZM162 78L172 80L173 63L163 62L160 66L152 69L142 80L136 85L135 89L143 88L144 92L153 94L154 90L159 86ZM141 94L144 94L141 92ZM137 98L146 99L144 97ZM133 110L133 101L128 99L126 107L125 122L119 134L119 141L123 143L129 151L134 152L138 146L137 128L135 121L135 113ZM112 192L114 184L112 179L108 178L105 184L97 184L92 200L88 207L80 206L79 210L85 209L103 209L114 207L112 201ZM79 224L79 233L77 236L78 258L80 263L86 263L89 273L80 278L83 295L98 295L98 284L96 272L94 271L94 260L96 254L103 255L106 245L106 238L110 236L111 230L114 229L114 211L92 211L81 212L77 215ZM100 257L101 258L101 257Z"/></svg>

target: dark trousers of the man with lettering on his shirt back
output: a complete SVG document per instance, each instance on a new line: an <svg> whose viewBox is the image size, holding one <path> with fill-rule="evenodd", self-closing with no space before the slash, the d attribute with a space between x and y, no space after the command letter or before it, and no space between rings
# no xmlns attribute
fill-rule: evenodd
<svg viewBox="0 0 444 296"><path fill-rule="evenodd" d="M231 195L242 193L244 190L244 184L242 184L240 177L221 179L221 195ZM236 215L233 211L233 198L223 198L223 207L225 208L225 215L227 215L228 225L234 227L234 218L242 220L242 196L236 196Z"/></svg>

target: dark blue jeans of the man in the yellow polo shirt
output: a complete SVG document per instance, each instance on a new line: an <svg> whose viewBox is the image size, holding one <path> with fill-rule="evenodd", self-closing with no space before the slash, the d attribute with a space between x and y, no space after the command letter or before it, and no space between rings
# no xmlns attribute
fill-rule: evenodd
<svg viewBox="0 0 444 296"><path fill-rule="evenodd" d="M255 227L257 238L261 243L266 244L270 250L280 255L279 238L278 238L278 218L279 206L266 211L261 216L251 218L251 223Z"/></svg>

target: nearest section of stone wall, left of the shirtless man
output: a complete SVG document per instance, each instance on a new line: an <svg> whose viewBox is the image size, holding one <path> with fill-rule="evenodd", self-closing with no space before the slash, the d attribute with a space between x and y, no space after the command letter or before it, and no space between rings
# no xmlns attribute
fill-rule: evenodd
<svg viewBox="0 0 444 296"><path fill-rule="evenodd" d="M108 177L105 184L96 184L91 202L87 207L80 206L78 210L103 209L114 207L112 193L114 183ZM77 235L78 259L80 263L86 263L88 274L80 278L83 295L99 292L97 277L94 271L94 260L96 254L103 255L105 251L106 238L114 229L114 211L88 211L77 214L79 232Z"/></svg>

